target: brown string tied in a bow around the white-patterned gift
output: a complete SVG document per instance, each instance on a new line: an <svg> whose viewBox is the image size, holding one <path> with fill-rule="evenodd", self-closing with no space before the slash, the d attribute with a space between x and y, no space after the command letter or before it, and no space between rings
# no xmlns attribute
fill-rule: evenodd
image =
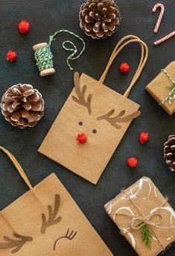
<svg viewBox="0 0 175 256"><path fill-rule="evenodd" d="M156 227L156 228L162 228L162 229L169 229L169 228L175 228L175 226L172 227L162 227L159 226L159 224L162 223L162 215L160 213L157 213L158 210L160 210L167 202L168 200L165 200L159 207L157 207L156 211L149 214L148 216L144 216L144 213L141 212L141 210L139 209L139 207L137 207L137 205L135 204L135 202L133 201L132 198L130 198L130 196L127 194L127 192L125 190L122 190L121 192L124 192L125 195L127 195L127 197L130 199L130 201L132 202L132 204L136 207L136 209L139 211L139 213L141 214L141 216L137 216L137 215L132 215L130 213L115 213L116 215L124 215L124 216L131 216L133 217L132 222L130 223L130 229L136 230L138 231L141 227L143 227L145 224L149 225L150 227ZM153 216L160 216L161 221L158 223L154 223L151 222L150 219L153 218ZM135 225L135 221L139 220L140 223L137 223ZM162 243L162 240L159 238L158 234L156 234L155 231L153 231L154 234L156 235L157 239L159 240L159 243L161 244L162 248L165 250L165 246Z"/></svg>

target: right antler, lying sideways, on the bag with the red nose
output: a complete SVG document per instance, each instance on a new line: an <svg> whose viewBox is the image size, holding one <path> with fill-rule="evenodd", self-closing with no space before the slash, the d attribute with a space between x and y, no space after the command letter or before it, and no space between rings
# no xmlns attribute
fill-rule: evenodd
<svg viewBox="0 0 175 256"><path fill-rule="evenodd" d="M117 128L117 129L121 129L121 126L119 124L116 123L123 123L123 122L127 122L130 120L133 120L134 118L138 118L139 115L141 115L140 111L136 111L133 114L127 115L125 117L123 117L123 115L125 114L125 110L122 110L118 115L115 115L114 117L111 117L114 114L115 110L112 109L111 111L109 111L106 115L101 115L100 117L97 118L97 120L106 120L107 122L109 122L109 124L112 124L113 127Z"/></svg>

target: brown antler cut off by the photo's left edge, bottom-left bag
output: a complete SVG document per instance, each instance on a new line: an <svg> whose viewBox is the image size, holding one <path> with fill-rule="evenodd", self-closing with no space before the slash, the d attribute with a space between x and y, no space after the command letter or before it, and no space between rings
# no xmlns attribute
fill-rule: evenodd
<svg viewBox="0 0 175 256"><path fill-rule="evenodd" d="M14 248L11 253L16 253L19 252L20 249L22 249L22 246L24 246L25 243L31 242L33 240L32 237L24 237L19 234L13 234L13 236L20 238L20 240L13 240L10 237L4 236L4 240L6 240L7 243L0 243L0 249Z"/></svg>

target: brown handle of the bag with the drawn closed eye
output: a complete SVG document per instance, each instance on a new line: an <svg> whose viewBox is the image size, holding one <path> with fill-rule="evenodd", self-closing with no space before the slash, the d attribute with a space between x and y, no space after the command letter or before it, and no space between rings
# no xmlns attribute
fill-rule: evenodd
<svg viewBox="0 0 175 256"><path fill-rule="evenodd" d="M25 183L28 185L29 189L32 190L33 187L31 186L31 183L28 180L28 177L26 176L25 171L22 169L22 166L19 165L19 162L16 160L16 158L10 153L10 151L6 150L4 147L0 146L0 150L4 151L4 153L7 154L7 156L10 158L10 160L13 162L13 165L15 165L16 169L18 170L22 179L25 180Z"/></svg>

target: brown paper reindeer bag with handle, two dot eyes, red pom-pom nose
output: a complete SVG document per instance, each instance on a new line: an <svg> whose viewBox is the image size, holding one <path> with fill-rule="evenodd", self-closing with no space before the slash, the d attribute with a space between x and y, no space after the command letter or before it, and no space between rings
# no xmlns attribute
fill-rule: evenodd
<svg viewBox="0 0 175 256"><path fill-rule="evenodd" d="M103 85L106 74L121 50L130 43L141 45L141 60L124 95ZM75 88L46 135L39 152L96 184L116 147L140 115L139 105L127 99L147 61L147 45L138 37L124 37L115 46L99 81L74 74ZM77 144L80 132L87 135L86 144Z"/></svg>

